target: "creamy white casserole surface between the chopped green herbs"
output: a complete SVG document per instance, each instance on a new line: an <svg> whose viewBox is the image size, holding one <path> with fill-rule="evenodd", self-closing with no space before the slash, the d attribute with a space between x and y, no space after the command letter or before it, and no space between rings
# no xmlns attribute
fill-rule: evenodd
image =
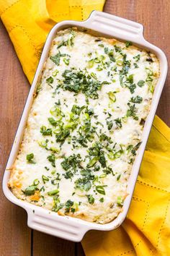
<svg viewBox="0 0 170 256"><path fill-rule="evenodd" d="M74 34L73 46L57 47L59 43L71 38L72 34L69 29L59 32L53 40L53 46L50 49L50 56L55 56L60 51L61 54L68 54L69 57L61 56L59 65L56 65L50 59L50 56L46 61L45 69L42 74L42 89L32 104L27 121L27 128L24 132L22 148L19 150L19 154L17 155L17 159L14 163L12 175L9 180L9 186L12 187L12 191L17 197L23 200L28 200L29 202L35 203L44 208L48 208L49 210L53 209L54 201L53 196L48 195L48 192L58 189L58 198L60 203L64 205L68 200L71 200L74 202L73 207L75 208L74 213L71 213L71 210L66 213L65 206L63 206L60 210L60 214L68 214L77 218L84 218L87 221L106 223L115 218L121 211L121 205L119 205L119 203L117 204L117 197L121 197L123 201L126 196L128 177L132 168L130 159L135 158L127 148L128 145L133 145L133 147L135 147L135 145L140 142L143 131L143 127L140 125L140 120L146 119L152 98L152 93L149 90L149 84L146 82L147 72L148 69L153 72L152 85L156 85L159 73L158 60L153 56L153 54L151 54L153 62L146 61L148 58L146 51L141 51L135 46L126 48L125 43L121 43L119 41L110 43L109 40L101 38L101 41L96 42L95 40L97 38L89 34L80 33L76 30L74 31ZM103 44L104 47L99 46L99 44ZM120 64L121 61L123 62L123 59L120 52L115 51L115 44L121 48L121 52L123 54L127 54L126 59L130 61L128 76L133 74L133 83L136 85L134 93L131 93L130 89L125 87L125 85L120 85L120 70L122 69L122 65ZM110 61L109 55L104 53L104 48L114 50L114 57L116 61L119 61L119 65L117 62ZM140 55L140 59L135 61L134 56L137 56L138 54ZM93 67L89 68L89 60L95 58L100 59L101 56L104 56L104 62L110 62L109 67L98 71L97 67L98 65L101 66L101 63L99 64L94 62ZM69 64L66 65L63 59L69 59ZM137 68L134 67L134 63L138 64ZM112 69L115 69L115 67L117 67L117 70L113 71ZM74 68L77 72L79 69L86 69L86 74L94 73L97 80L100 82L107 81L109 84L102 85L102 89L97 91L99 98L89 98L88 108L94 109L94 115L91 115L91 127L96 127L97 133L94 133L94 139L87 143L88 148L84 148L79 145L79 143L76 143L76 145L79 145L78 148L73 148L72 142L69 144L67 138L61 146L60 153L54 153L55 167L53 167L51 162L47 159L48 155L51 155L52 152L40 147L39 145L40 141L48 139L48 148L53 147L60 149L61 142L56 142L54 133L53 136L43 136L40 132L40 127L42 126L53 130L56 129L48 121L49 117L53 117L55 119L55 116L50 114L50 109L55 106L55 102L60 100L61 106L59 107L63 114L65 114L62 121L66 124L73 105L87 106L84 93L78 93L75 95L75 93L63 90L62 88L58 88L56 93L54 93L55 88L58 86L58 83L60 83L60 80L61 83L63 81L63 72L66 69L71 68ZM58 74L53 76L56 69L58 70ZM108 72L110 72L110 74L108 74ZM111 74L113 75L112 77ZM53 83L50 84L53 88L51 88L46 81L48 77L53 77ZM138 82L140 80L145 81L143 87L138 86ZM115 102L111 102L109 100L109 92L116 92ZM135 120L133 116L127 116L127 111L130 98L135 98L137 96L142 98L142 102L135 103L136 116L138 116L138 120ZM130 104L133 105L133 103ZM113 121L112 129L110 130L107 125L108 112L112 115L108 120ZM95 118L94 116L97 117ZM117 118L121 120L122 127L117 127L117 124L114 121ZM81 111L79 116L78 126L73 131L70 131L71 137L79 137L78 130L83 123L84 110ZM89 189L89 191L78 189L76 188L75 181L82 178L80 170L78 169L76 171L76 174L73 175L72 179L66 179L63 176L63 174L66 174L66 171L61 166L61 162L64 160L63 155L69 157L70 155L79 153L82 158L81 166L86 168L86 165L89 163L89 158L86 158L86 156L89 155L88 150L92 145L94 145L94 142L99 141L97 134L100 135L101 133L112 138L112 141L114 142L112 147L116 143L115 151L113 150L113 153L120 150L122 147L120 157L110 160L108 157L109 152L106 148L107 141L102 142L102 150L104 151L107 167L109 166L112 168L114 175L111 173L107 174L107 176L103 178L100 177L103 174L104 168L102 168L99 161L97 161L97 165L100 166L100 169L99 171L92 171L92 173L94 176L98 176L98 181L91 182L91 189ZM27 155L30 153L34 154L35 164L29 163L26 160ZM93 168L91 168L91 170L92 169ZM53 171L55 171L55 174L53 174ZM57 184L52 184L51 181L55 179L56 173L60 174L61 180L58 181ZM48 177L49 180L44 183L42 175ZM24 195L24 191L34 183L35 179L39 181L39 184L37 184L37 192L40 198L34 201L32 200L32 196ZM19 186L16 185L16 182L17 184L19 183ZM97 192L96 186L106 186L104 187L105 195ZM42 187L44 187L44 191L43 189L40 191ZM92 195L92 197L94 197L94 203L90 203L88 201L87 195ZM100 202L99 200L102 197L104 198L104 201Z"/></svg>

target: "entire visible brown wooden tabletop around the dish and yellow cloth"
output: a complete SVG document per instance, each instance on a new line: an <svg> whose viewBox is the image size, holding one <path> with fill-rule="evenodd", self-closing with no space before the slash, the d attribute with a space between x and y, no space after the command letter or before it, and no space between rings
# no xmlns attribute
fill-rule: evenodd
<svg viewBox="0 0 170 256"><path fill-rule="evenodd" d="M107 0L105 12L140 22L145 38L170 57L169 0ZM30 90L22 67L4 26L0 31L0 158L1 176L12 146L22 108ZM157 114L170 124L170 75L166 80ZM4 197L0 187L0 255L1 256L82 256L81 244L64 241L27 227L27 214Z"/></svg>

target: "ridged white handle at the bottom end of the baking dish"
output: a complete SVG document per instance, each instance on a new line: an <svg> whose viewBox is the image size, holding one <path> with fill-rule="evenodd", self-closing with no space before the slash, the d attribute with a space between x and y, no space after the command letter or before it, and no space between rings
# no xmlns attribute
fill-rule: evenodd
<svg viewBox="0 0 170 256"><path fill-rule="evenodd" d="M58 236L73 242L81 242L84 234L89 230L87 223L79 223L79 219L72 219L67 216L58 216L56 213L47 213L45 209L26 208L27 210L27 225L31 229L42 231L43 233ZM45 210L45 213L42 211ZM48 215L48 216L47 216Z"/></svg>

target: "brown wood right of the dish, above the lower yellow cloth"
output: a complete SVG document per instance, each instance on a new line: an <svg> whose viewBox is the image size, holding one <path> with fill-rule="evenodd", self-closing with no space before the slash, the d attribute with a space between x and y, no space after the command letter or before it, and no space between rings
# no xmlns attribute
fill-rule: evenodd
<svg viewBox="0 0 170 256"><path fill-rule="evenodd" d="M144 25L144 36L161 48L170 59L169 0L107 0L104 12L115 14ZM156 114L170 126L170 74L168 74Z"/></svg>

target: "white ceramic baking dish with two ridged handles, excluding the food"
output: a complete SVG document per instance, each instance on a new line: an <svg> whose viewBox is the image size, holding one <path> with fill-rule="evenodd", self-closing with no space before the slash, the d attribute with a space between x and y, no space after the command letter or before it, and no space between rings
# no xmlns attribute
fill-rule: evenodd
<svg viewBox="0 0 170 256"><path fill-rule="evenodd" d="M20 142L22 142L24 127L27 124L27 116L32 106L33 94L36 90L37 80L40 78L40 75L42 73L42 67L48 57L48 51L50 49L52 40L55 37L55 34L58 32L58 30L66 27L79 27L80 30L86 29L89 33L93 31L94 35L102 35L107 38L117 38L118 40L129 40L135 43L135 45L139 46L140 48L145 48L148 51L153 52L153 54L156 54L160 61L161 75L153 93L151 110L148 114L143 129L142 144L140 145L140 149L138 150L138 155L135 158L135 163L133 164L133 169L131 171L130 179L128 181L128 197L126 197L124 201L122 213L120 213L119 216L117 216L117 218L115 218L115 220L113 220L112 222L103 225L98 223L90 223L78 218L58 216L58 214L50 212L49 210L17 199L17 197L12 194L11 190L7 186L10 175L9 169L14 163L14 160L19 150ZM151 43L148 43L148 41L143 38L143 25L140 25L136 22L125 20L104 12L94 11L91 12L89 19L84 22L63 21L53 27L48 35L44 49L42 51L42 56L40 58L37 71L32 82L32 87L30 89L27 102L24 106L24 111L22 114L22 118L19 122L19 127L17 129L14 143L12 145L9 160L6 164L6 171L4 173L3 179L4 195L8 200L16 205L21 206L27 211L27 224L28 226L30 226L30 228L45 232L47 234L51 234L53 236L58 236L63 239L68 239L73 242L80 242L81 239L84 237L84 234L86 234L86 231L89 231L91 229L109 231L112 229L116 229L118 226L121 225L130 207L130 201L133 196L133 190L140 169L140 163L142 161L143 153L146 148L146 142L148 140L148 135L151 130L153 118L155 116L158 101L161 96L161 91L164 87L164 82L166 80L167 69L168 65L164 52L156 46L153 46Z"/></svg>

